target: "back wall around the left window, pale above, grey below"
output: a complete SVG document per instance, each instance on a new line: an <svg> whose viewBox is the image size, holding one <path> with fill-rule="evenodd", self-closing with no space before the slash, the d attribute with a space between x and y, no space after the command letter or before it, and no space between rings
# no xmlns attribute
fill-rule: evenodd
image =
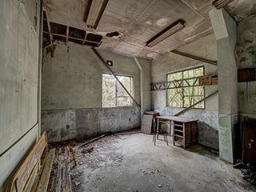
<svg viewBox="0 0 256 192"><path fill-rule="evenodd" d="M105 60L113 61L115 74L134 77L134 98L140 102L140 70L134 58L98 52ZM150 61L138 61L145 72L145 84L150 79ZM90 48L59 42L53 58L44 52L42 65L42 130L47 131L50 142L140 126L140 110L136 106L102 108L102 73L110 72ZM145 85L145 89L143 104L150 105L150 86Z"/></svg>

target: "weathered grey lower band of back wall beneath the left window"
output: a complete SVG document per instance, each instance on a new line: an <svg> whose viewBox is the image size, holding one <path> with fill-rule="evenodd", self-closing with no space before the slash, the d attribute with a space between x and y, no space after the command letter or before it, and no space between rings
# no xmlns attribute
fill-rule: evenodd
<svg viewBox="0 0 256 192"><path fill-rule="evenodd" d="M47 132L49 142L90 138L140 125L140 110L136 106L42 111L42 131Z"/></svg>

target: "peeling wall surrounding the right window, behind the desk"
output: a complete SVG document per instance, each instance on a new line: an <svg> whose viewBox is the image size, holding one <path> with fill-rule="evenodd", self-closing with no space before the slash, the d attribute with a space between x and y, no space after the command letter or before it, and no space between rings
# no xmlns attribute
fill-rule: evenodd
<svg viewBox="0 0 256 192"><path fill-rule="evenodd" d="M217 46L213 34L183 46L179 50L211 60L217 58ZM217 66L198 62L178 54L167 53L152 62L152 82L164 82L166 81L166 74L194 66L205 66L205 74L212 74L217 71ZM218 90L218 86L206 86L205 90L206 95L209 95ZM173 115L182 110L166 107L166 90L152 91L151 95L154 110L159 111L161 115ZM198 142L204 146L218 149L218 94L206 100L205 110L189 110L181 117L198 118Z"/></svg>

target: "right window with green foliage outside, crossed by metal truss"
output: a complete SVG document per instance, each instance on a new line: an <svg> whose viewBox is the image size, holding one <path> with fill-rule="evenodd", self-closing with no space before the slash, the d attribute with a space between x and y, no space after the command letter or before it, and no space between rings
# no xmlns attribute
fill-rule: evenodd
<svg viewBox="0 0 256 192"><path fill-rule="evenodd" d="M167 106L189 107L205 97L204 86L198 86L199 76L204 75L204 67L182 70L166 75L166 81L171 83L166 90ZM200 102L194 109L204 109L205 102Z"/></svg>

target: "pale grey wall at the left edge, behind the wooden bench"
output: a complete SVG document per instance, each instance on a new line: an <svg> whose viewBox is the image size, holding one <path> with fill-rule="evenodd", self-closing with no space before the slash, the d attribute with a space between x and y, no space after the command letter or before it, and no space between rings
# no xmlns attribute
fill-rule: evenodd
<svg viewBox="0 0 256 192"><path fill-rule="evenodd" d="M0 1L0 191L38 138L39 13L37 0Z"/></svg>

